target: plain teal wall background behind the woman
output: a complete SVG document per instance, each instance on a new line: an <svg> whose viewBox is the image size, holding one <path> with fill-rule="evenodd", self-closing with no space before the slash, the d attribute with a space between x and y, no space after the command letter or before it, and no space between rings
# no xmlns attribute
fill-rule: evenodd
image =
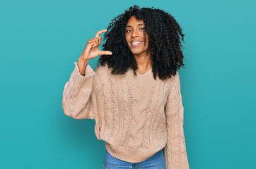
<svg viewBox="0 0 256 169"><path fill-rule="evenodd" d="M134 4L167 11L185 34L179 73L190 168L255 168L252 0L1 1L0 168L103 168L95 120L64 115L62 92L88 39Z"/></svg>

